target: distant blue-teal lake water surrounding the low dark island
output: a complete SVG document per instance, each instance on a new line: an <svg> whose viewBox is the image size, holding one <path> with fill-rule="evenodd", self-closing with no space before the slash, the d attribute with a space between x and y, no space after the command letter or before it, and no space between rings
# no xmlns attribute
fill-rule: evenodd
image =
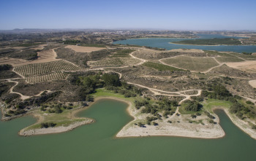
<svg viewBox="0 0 256 161"><path fill-rule="evenodd" d="M236 38L241 37L230 37L222 36L217 34L198 34L199 38L196 39L212 39L212 38ZM140 46L148 47L159 47L167 50L173 49L199 49L199 50L217 50L225 52L256 52L256 45L219 45L219 46L200 46L200 45L187 45L187 44L170 44L170 42L178 42L185 39L166 39L166 38L148 38L148 39L127 39L113 44L135 44Z"/></svg>

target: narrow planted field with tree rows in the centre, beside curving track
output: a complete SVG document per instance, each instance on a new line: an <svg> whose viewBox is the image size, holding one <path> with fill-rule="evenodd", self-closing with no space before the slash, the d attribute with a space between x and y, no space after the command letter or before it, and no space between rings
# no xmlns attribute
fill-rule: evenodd
<svg viewBox="0 0 256 161"><path fill-rule="evenodd" d="M141 60L136 58L108 58L98 61L89 61L89 66L121 66L121 65L135 65Z"/></svg>

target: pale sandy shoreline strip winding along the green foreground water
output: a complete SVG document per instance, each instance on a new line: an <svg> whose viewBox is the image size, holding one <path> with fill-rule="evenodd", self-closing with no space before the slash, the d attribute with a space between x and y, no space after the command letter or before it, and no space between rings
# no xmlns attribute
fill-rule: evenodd
<svg viewBox="0 0 256 161"><path fill-rule="evenodd" d="M132 106L132 102L127 101L125 98L115 98L111 96L99 96L95 98L94 102L90 103L89 106L81 107L72 111L72 117L85 119L83 121L75 122L68 126L38 128L38 129L32 129L32 130L26 130L27 128L26 127L20 130L18 134L19 136L35 136L35 135L45 135L45 134L53 134L53 133L64 133L64 132L68 132L69 130L74 130L76 127L94 123L95 122L94 119L87 118L87 117L78 117L78 114L80 113L80 111L84 111L86 109L91 108L91 106L94 103L97 103L97 101L104 100L104 99L110 99L114 101L121 101L121 102L127 103L127 108L126 108L127 114L129 114L129 116L133 118L132 121L128 122L127 125L122 127L121 130L119 130L118 133L116 133L114 138L129 138L129 137L134 138L134 137L145 137L145 136L175 136L175 137L185 137L185 138L216 139L216 138L225 137L225 131L219 125L219 117L215 113L214 114L216 115L216 118L217 118L217 125L214 125L215 127L212 127L211 129L199 127L198 130L200 131L197 131L197 133L192 132L191 130L186 128L181 129L173 125L169 125L169 128L165 130L165 133L163 133L163 131L159 131L155 129L153 125L148 127L138 127L134 125L134 122L136 122L136 120L140 118L138 118L138 116L135 116L136 112L138 111L135 111L135 108L133 108ZM227 114L227 116L230 118L231 122L233 122L234 125L240 128L244 133L248 134L250 137L256 139L256 133L253 133L254 132L253 130L248 130L242 127L241 121L231 117L227 109L221 108L221 107L216 107L216 108L214 107L212 110L214 111L215 109L221 109L225 111L225 114ZM39 114L32 113L30 115L37 118L37 122L34 123L34 125L44 121L43 117L40 116ZM179 123L179 124L182 125L183 123ZM130 127L130 128L127 128L127 127ZM146 133L143 133L142 130L145 130L145 129L148 131Z"/></svg>

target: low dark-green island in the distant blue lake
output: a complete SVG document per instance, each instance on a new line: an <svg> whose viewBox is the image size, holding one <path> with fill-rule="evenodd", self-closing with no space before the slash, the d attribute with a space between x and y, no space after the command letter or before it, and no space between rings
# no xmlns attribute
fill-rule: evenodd
<svg viewBox="0 0 256 161"><path fill-rule="evenodd" d="M180 42L172 42L174 44L193 44L193 45L239 45L241 42L238 39L233 38L225 38L225 39L192 39L192 40L183 40Z"/></svg>

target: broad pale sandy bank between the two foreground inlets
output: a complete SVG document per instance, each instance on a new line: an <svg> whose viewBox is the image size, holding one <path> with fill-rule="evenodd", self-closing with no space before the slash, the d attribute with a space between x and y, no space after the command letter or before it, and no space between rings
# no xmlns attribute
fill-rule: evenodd
<svg viewBox="0 0 256 161"><path fill-rule="evenodd" d="M135 109L129 109L130 114L135 117L132 122L129 122L125 127L121 129L116 137L138 137L138 136L180 136L188 138L222 138L225 136L222 127L217 124L210 124L204 122L205 125L189 123L187 115L172 116L170 118L162 118L162 121L156 120L157 126L145 125L145 127L138 127L136 122L143 122L146 119L146 114L139 114L135 112ZM215 122L219 122L217 115L214 119ZM206 119L206 117L197 117L199 119ZM172 123L167 122L172 121ZM193 120L195 121L195 120Z"/></svg>

